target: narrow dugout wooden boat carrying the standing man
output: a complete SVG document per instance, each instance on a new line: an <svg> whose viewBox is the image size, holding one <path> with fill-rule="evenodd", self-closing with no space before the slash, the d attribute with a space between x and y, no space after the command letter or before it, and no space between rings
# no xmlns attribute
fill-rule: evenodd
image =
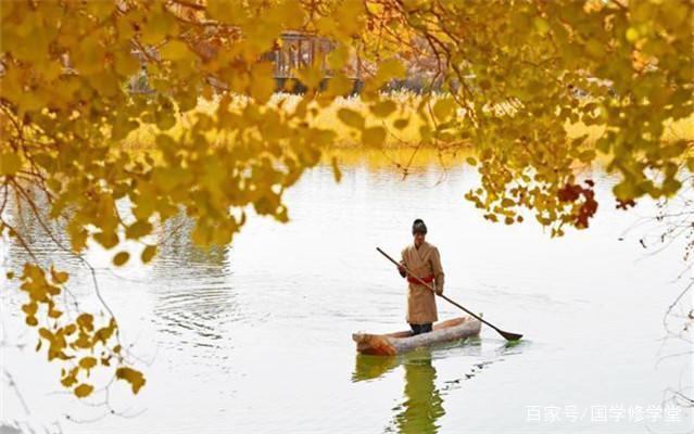
<svg viewBox="0 0 694 434"><path fill-rule="evenodd" d="M352 339L356 342L356 350L361 354L394 356L415 348L478 336L481 329L481 321L472 317L460 317L437 322L431 332L416 336L407 330L388 334L354 333Z"/></svg>

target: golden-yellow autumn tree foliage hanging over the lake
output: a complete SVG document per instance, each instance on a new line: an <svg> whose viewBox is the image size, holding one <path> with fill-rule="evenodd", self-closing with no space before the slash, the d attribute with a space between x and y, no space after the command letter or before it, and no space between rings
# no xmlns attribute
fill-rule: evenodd
<svg viewBox="0 0 694 434"><path fill-rule="evenodd" d="M530 213L552 235L586 228L597 181L577 166L607 158L623 208L676 194L694 167L691 141L664 138L692 115L692 9L687 0L3 2L0 231L30 252L3 210L12 197L40 220L42 196L75 255L96 242L121 266L150 261L148 235L181 210L201 245L229 243L250 207L287 221L282 194L335 142L314 120L354 88L355 56L365 69L358 98L383 120L346 107L337 116L363 143L380 146L407 125L386 122L401 107L383 89L425 65L437 95L425 89L414 112L420 145L474 150L481 183L466 197L484 217L514 224ZM293 72L306 90L291 107L272 103L275 68L264 55L287 30L335 47L327 65ZM136 76L150 91L131 91ZM213 98L214 113L171 132ZM597 137L569 135L572 124L595 126ZM122 145L148 125L159 131L154 146ZM126 240L142 242L139 258ZM58 295L67 273L35 260L8 278L26 293L37 350L63 363L65 387L90 395L92 369L142 387L115 318L65 319Z"/></svg>

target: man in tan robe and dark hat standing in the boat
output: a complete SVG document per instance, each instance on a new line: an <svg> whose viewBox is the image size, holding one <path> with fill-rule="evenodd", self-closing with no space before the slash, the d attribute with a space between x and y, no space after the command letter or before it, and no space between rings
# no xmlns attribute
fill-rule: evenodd
<svg viewBox="0 0 694 434"><path fill-rule="evenodd" d="M443 268L439 250L425 241L427 226L421 219L416 219L412 225L414 243L403 248L401 266L398 268L400 276L407 278L409 283L407 292L407 322L412 328L412 334L427 333L431 331L431 323L439 319L437 315L437 302L430 289L419 283L412 276L407 276L405 267L416 277L432 286L438 295L443 294Z"/></svg>

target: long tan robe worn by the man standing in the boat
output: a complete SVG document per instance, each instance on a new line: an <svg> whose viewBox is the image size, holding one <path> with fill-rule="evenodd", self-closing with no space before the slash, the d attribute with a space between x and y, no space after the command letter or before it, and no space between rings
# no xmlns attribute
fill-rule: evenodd
<svg viewBox="0 0 694 434"><path fill-rule="evenodd" d="M439 250L422 242L419 248L412 243L402 251L403 264L418 278L433 275L434 281L429 283L438 292L443 292L443 268ZM420 283L409 283L407 291L407 322L426 324L439 320L437 302L433 292Z"/></svg>

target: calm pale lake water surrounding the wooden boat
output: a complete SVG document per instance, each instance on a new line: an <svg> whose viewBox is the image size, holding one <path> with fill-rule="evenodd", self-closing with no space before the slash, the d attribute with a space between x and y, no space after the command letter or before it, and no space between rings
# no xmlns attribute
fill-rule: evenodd
<svg viewBox="0 0 694 434"><path fill-rule="evenodd" d="M227 248L195 248L182 219L160 235L149 266L112 270L92 248L101 292L148 381L136 397L111 387L116 416L93 406L103 394L89 405L61 391L59 368L36 356L15 314L23 298L2 281L2 365L29 413L3 378L0 420L64 433L693 430L691 413L658 411L668 387L692 387L692 360L664 358L691 349L664 341L683 247L651 255L638 243L642 227L619 241L652 205L623 213L605 200L590 230L551 240L537 225L487 222L463 199L474 173L454 169L437 184L440 175L432 167L402 181L355 166L336 184L317 168L287 195L291 222L252 218ZM483 328L465 345L355 355L352 332L406 327L405 285L375 247L398 254L417 217L441 251L446 294L523 333L521 343ZM41 258L71 271L85 308L98 306L87 270L25 225ZM0 254L3 268L26 260L8 240ZM458 316L444 303L440 317Z"/></svg>

